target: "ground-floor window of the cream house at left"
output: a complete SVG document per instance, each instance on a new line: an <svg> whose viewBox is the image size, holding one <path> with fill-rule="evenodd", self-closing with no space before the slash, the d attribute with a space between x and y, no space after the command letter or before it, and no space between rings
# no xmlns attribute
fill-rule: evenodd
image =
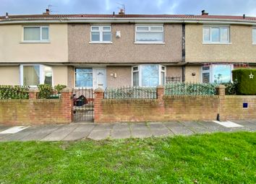
<svg viewBox="0 0 256 184"><path fill-rule="evenodd" d="M37 87L39 84L53 85L53 71L51 66L40 64L26 64L20 66L20 84Z"/></svg>

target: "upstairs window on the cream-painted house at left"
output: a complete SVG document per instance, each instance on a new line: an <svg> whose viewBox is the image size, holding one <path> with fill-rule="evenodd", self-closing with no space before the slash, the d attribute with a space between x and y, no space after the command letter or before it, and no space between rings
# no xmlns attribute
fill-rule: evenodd
<svg viewBox="0 0 256 184"><path fill-rule="evenodd" d="M26 26L23 27L23 41L40 42L49 40L48 26Z"/></svg>

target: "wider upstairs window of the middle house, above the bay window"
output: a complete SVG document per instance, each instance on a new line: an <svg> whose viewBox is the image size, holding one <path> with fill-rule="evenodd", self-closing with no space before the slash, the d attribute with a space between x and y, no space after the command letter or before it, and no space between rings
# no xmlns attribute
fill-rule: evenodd
<svg viewBox="0 0 256 184"><path fill-rule="evenodd" d="M136 43L163 43L163 26L136 26Z"/></svg>

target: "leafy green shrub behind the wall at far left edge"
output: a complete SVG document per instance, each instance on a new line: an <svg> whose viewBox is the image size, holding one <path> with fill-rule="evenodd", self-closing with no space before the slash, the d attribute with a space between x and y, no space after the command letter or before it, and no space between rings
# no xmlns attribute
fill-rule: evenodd
<svg viewBox="0 0 256 184"><path fill-rule="evenodd" d="M0 85L0 99L28 99L28 89L25 86Z"/></svg>

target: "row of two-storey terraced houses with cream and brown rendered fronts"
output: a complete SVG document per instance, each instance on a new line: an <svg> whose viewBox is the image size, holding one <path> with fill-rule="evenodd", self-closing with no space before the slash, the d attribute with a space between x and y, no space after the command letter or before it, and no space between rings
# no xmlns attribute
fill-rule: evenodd
<svg viewBox="0 0 256 184"><path fill-rule="evenodd" d="M0 84L151 87L231 82L256 66L256 17L43 14L0 17Z"/></svg>

